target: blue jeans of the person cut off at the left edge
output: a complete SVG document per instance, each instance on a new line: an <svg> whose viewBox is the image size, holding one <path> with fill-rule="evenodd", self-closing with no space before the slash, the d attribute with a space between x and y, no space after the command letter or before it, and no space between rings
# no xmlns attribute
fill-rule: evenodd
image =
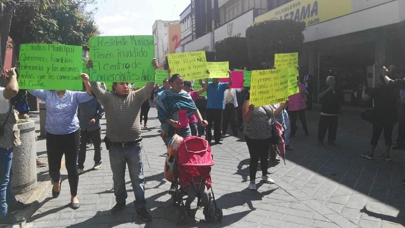
<svg viewBox="0 0 405 228"><path fill-rule="evenodd" d="M17 202L11 187L13 151L0 148L0 218L7 215L7 205Z"/></svg>

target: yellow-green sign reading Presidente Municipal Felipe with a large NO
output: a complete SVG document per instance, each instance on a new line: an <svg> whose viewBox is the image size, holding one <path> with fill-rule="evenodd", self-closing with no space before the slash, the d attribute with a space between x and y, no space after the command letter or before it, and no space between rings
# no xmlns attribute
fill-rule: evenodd
<svg viewBox="0 0 405 228"><path fill-rule="evenodd" d="M184 80L207 78L205 51L168 54L167 60L171 73L181 74Z"/></svg>

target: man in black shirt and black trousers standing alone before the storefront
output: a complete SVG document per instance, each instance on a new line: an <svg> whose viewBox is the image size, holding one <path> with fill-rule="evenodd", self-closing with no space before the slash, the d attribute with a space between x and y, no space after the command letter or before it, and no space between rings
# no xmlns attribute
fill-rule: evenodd
<svg viewBox="0 0 405 228"><path fill-rule="evenodd" d="M326 131L328 131L329 145L336 145L337 120L341 114L342 93L336 88L334 76L326 78L326 87L320 91L319 99L321 101L321 114L318 125L318 143L323 144Z"/></svg>

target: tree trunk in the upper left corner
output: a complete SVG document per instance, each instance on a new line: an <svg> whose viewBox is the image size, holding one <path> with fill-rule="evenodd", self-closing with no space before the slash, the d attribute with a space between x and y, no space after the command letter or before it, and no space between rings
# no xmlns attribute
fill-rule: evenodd
<svg viewBox="0 0 405 228"><path fill-rule="evenodd" d="M16 3L14 1L0 4L0 69L4 66L8 35L15 9Z"/></svg>

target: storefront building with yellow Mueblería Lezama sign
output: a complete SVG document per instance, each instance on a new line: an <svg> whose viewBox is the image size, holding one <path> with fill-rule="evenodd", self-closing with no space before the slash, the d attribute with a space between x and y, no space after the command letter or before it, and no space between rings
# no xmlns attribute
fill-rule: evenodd
<svg viewBox="0 0 405 228"><path fill-rule="evenodd" d="M328 75L337 78L346 104L361 106L361 85L374 87L382 67L405 66L404 0L292 0L255 22L293 19L307 24L300 65L315 78L315 96Z"/></svg>

